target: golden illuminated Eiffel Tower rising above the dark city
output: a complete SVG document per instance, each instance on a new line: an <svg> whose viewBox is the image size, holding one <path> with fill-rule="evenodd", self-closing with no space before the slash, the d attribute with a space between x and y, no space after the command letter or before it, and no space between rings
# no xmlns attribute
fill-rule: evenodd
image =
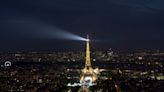
<svg viewBox="0 0 164 92"><path fill-rule="evenodd" d="M87 40L86 40L86 61L85 61L85 67L82 71L82 76L81 76L81 83L92 83L95 81L95 75L93 68L91 66L91 60L90 60L90 40L89 36L87 35Z"/></svg>

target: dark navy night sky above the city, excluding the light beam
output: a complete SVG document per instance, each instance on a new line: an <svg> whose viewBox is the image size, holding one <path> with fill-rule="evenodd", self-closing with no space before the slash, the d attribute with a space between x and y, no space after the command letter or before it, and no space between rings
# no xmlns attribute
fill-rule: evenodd
<svg viewBox="0 0 164 92"><path fill-rule="evenodd" d="M54 28L54 29L53 29ZM164 49L163 0L1 0L0 51L83 50L82 41L40 36L55 28L92 49ZM51 34L51 33L50 33Z"/></svg>

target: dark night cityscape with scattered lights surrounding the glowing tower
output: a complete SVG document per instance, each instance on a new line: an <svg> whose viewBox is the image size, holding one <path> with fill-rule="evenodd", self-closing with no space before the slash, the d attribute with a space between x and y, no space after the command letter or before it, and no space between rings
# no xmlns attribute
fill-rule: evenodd
<svg viewBox="0 0 164 92"><path fill-rule="evenodd" d="M78 92L80 88L68 85L79 82L85 52L10 52L0 56L0 89L4 92ZM90 87L93 92L163 91L163 52L107 50L91 52L91 57L92 67L98 73L96 85ZM6 61L12 62L11 66L4 66Z"/></svg>

